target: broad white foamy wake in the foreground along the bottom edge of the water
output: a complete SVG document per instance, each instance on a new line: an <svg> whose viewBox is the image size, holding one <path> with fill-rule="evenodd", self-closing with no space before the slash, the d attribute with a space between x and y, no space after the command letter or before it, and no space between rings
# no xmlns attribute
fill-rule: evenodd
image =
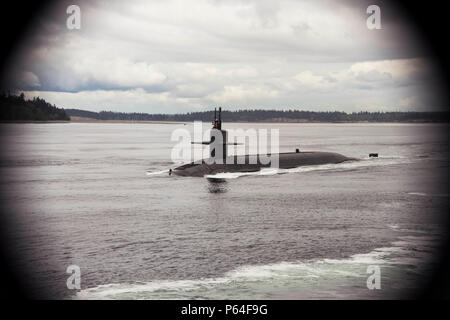
<svg viewBox="0 0 450 320"><path fill-rule="evenodd" d="M390 226L391 227L391 226ZM316 259L241 266L217 278L106 284L81 290L75 299L373 299L386 298L391 283L418 283L436 249L436 237L405 233L389 247L344 259ZM380 267L383 296L368 290L368 266ZM339 287L339 295L335 290ZM394 296L395 297L395 296Z"/></svg>

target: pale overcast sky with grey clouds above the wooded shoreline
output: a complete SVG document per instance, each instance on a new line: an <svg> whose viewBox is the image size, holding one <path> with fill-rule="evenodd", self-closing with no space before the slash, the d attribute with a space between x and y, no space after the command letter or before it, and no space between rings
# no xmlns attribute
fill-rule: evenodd
<svg viewBox="0 0 450 320"><path fill-rule="evenodd" d="M373 1L371 1L373 2ZM436 110L439 77L401 8L367 1L90 1L81 30L58 2L37 14L12 87L59 107Z"/></svg>

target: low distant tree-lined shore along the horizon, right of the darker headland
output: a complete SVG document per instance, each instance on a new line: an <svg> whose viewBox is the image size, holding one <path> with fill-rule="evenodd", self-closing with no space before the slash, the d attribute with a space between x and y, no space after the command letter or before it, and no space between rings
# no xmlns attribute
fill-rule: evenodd
<svg viewBox="0 0 450 320"><path fill-rule="evenodd" d="M70 116L96 120L128 121L211 121L214 111L185 114L148 114L66 109ZM227 122L449 122L449 112L315 112L300 110L237 110L222 111Z"/></svg>

